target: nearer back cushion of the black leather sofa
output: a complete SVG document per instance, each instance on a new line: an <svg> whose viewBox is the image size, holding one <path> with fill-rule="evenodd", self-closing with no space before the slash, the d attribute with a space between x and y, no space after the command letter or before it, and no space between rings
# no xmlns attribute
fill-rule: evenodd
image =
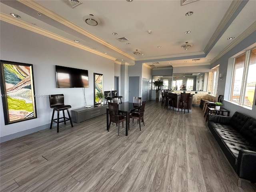
<svg viewBox="0 0 256 192"><path fill-rule="evenodd" d="M240 133L256 146L256 119L250 118Z"/></svg>

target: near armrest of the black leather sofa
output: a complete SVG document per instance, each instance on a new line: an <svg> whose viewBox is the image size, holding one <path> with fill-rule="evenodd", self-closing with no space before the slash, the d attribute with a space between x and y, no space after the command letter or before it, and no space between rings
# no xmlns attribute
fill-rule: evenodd
<svg viewBox="0 0 256 192"><path fill-rule="evenodd" d="M239 178L252 183L256 182L256 152L240 150L237 159L236 173Z"/></svg>

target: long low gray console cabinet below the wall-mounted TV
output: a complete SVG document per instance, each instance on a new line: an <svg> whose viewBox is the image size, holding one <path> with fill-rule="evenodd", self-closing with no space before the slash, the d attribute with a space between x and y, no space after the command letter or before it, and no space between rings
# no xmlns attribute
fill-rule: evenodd
<svg viewBox="0 0 256 192"><path fill-rule="evenodd" d="M108 108L108 105L103 104L103 105L98 105L98 107L91 106L90 108L82 107L82 108L71 110L72 121L76 123L80 123L88 119L103 115L106 113L107 108Z"/></svg>

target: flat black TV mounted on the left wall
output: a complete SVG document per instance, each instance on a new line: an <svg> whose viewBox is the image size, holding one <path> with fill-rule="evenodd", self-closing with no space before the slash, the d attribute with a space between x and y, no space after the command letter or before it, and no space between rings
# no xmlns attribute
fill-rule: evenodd
<svg viewBox="0 0 256 192"><path fill-rule="evenodd" d="M56 65L57 88L89 87L88 70Z"/></svg>

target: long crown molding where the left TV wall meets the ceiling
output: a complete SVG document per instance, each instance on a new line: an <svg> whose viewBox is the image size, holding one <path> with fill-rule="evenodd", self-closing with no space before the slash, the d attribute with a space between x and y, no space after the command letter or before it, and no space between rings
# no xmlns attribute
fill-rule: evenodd
<svg viewBox="0 0 256 192"><path fill-rule="evenodd" d="M26 23L26 22L24 22L24 21L22 21L22 20L19 20L19 19L17 19L17 18L14 18L14 17L9 16L9 15L7 15L7 14L4 14L4 13L2 13L2 12L0 12L0 20L2 20L2 21L4 21L4 22L7 22L7 23L10 23L10 24L13 24L13 25L15 25L15 26L18 26L18 27L20 27L20 28L24 28L24 29L26 29L26 30L30 30L30 31L35 32L35 33L38 33L38 34L40 34L40 35L43 35L43 36L52 38L52 39L54 39L54 40L58 40L58 41L60 41L60 42L66 43L66 44L71 45L71 46L74 46L74 47L76 47L76 48L80 48L80 49L82 49L82 50L91 52L91 53L96 54L96 55L98 55L98 56L102 56L102 57L104 57L104 58L108 58L108 59L114 60L114 61L116 60L116 58L114 58L114 57L112 57L112 56L109 56L109 55L107 55L107 54L104 54L104 53L102 53L102 52L99 52L99 51L97 51L97 50L94 50L94 49L92 49L92 48L90 48L90 47L87 47L87 46L84 46L84 45L82 45L82 44L76 43L76 42L74 42L74 41L72 41L72 40L69 40L69 39L64 38L64 37L62 37L62 36L59 36L59 35L54 34L54 33L52 33L52 32L46 31L46 30L44 30L44 29L42 29L42 28L39 28L39 27L37 27L37 26L33 26L32 24Z"/></svg>

